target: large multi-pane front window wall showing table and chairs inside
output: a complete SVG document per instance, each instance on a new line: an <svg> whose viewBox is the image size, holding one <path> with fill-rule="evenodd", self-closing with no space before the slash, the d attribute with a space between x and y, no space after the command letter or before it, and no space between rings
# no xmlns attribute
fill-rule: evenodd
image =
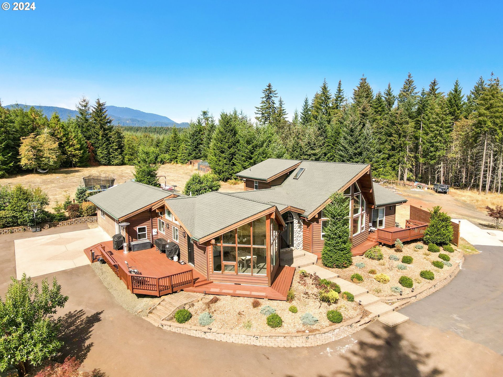
<svg viewBox="0 0 503 377"><path fill-rule="evenodd" d="M216 237L213 272L267 274L266 217Z"/></svg>

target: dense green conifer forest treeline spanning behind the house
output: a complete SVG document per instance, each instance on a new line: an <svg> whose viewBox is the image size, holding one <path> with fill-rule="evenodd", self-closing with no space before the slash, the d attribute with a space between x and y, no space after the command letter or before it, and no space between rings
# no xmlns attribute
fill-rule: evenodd
<svg viewBox="0 0 503 377"><path fill-rule="evenodd" d="M187 128L113 126L105 103L83 98L76 118L50 119L37 110L0 109L0 173L86 164L185 163L208 160L222 180L266 158L370 163L374 176L500 191L503 90L493 74L463 95L458 80L447 93L434 79L418 89L409 73L399 90L376 92L363 76L350 96L326 80L300 112L271 84L256 117L236 110L218 122L208 111ZM128 128L126 128L127 130ZM148 131L141 133L141 131Z"/></svg>

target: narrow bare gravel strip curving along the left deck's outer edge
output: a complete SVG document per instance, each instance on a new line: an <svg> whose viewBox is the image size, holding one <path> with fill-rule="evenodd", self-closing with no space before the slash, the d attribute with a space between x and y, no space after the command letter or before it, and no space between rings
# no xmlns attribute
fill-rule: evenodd
<svg viewBox="0 0 503 377"><path fill-rule="evenodd" d="M91 267L117 302L129 313L141 317L146 316L148 309L160 300L158 297L135 295L129 292L126 285L115 275L108 264L92 263Z"/></svg>

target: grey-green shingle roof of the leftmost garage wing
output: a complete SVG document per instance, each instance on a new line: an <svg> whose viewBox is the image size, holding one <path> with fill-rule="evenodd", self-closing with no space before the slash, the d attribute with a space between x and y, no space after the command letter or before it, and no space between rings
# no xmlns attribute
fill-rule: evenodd
<svg viewBox="0 0 503 377"><path fill-rule="evenodd" d="M128 180L93 195L89 200L118 220L172 194L172 192L164 191L158 187Z"/></svg>

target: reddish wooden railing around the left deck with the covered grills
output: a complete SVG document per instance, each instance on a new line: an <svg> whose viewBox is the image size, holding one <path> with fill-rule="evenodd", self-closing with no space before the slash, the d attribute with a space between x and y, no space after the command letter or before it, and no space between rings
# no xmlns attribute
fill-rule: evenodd
<svg viewBox="0 0 503 377"><path fill-rule="evenodd" d="M126 271L125 268L117 263L111 252L106 251L101 245L98 246L98 250L112 271L124 281L124 284L131 293L159 297L194 285L192 270L172 273L161 277L137 275Z"/></svg>

